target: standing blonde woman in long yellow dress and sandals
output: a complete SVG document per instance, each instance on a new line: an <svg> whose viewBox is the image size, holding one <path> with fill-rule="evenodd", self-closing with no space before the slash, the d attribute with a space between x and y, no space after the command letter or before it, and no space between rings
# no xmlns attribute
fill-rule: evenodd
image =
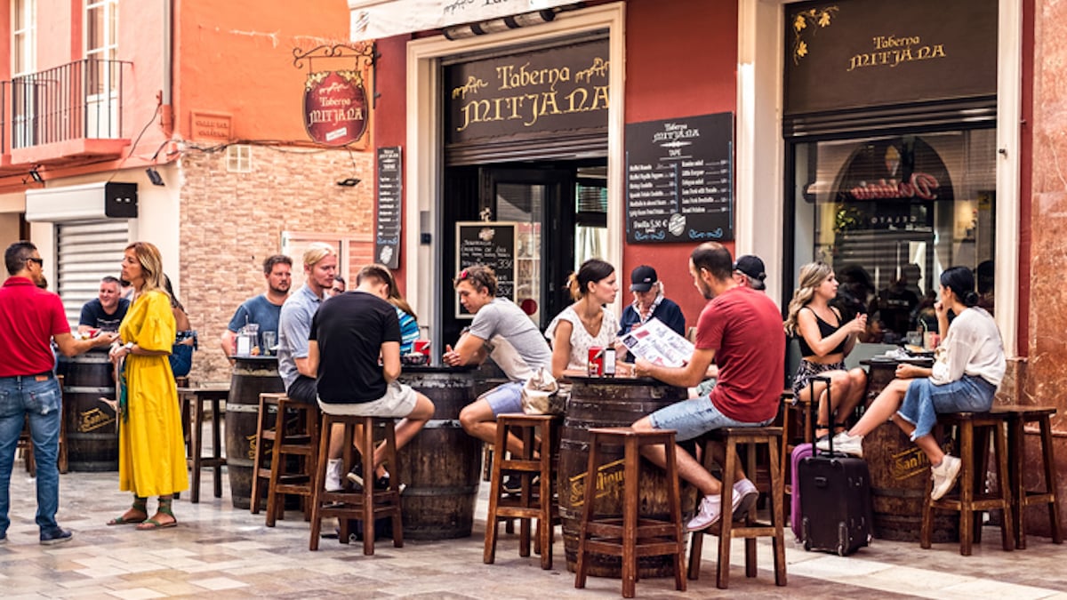
<svg viewBox="0 0 1067 600"><path fill-rule="evenodd" d="M178 394L168 356L174 344L171 298L163 289L159 249L146 241L126 247L123 280L133 286L129 312L118 327L122 345L111 359L125 359L120 394L118 488L133 492L133 506L109 525L137 524L158 530L178 524L171 509L174 492L186 489L186 454ZM149 519L147 499L159 496Z"/></svg>

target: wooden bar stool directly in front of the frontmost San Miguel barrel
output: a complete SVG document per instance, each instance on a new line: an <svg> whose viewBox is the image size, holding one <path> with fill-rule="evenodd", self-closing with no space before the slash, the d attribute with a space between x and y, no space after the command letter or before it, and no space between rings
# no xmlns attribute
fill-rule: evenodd
<svg viewBox="0 0 1067 600"><path fill-rule="evenodd" d="M602 444L623 446L622 518L595 517L596 480ZM668 520L641 518L639 515L640 449L663 445L666 451ZM586 498L578 525L578 564L574 587L586 586L589 554L622 558L622 597L633 598L637 583L637 559L641 556L674 556L674 588L685 591L685 537L682 533L682 504L679 494L674 431L656 429L636 431L630 427L605 427L589 430L589 470L586 472Z"/></svg>

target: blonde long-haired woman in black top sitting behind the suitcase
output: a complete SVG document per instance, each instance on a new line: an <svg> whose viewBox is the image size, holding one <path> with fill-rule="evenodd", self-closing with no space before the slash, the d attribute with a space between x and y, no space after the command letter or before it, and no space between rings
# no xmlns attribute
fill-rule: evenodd
<svg viewBox="0 0 1067 600"><path fill-rule="evenodd" d="M830 430L830 411L844 419L863 397L866 374L862 368L845 368L845 356L856 345L856 337L866 330L866 315L858 314L842 325L841 313L829 302L838 294L838 280L833 269L825 263L810 263L800 268L800 281L793 293L785 332L799 337L803 360L793 378L793 397L818 402L816 436ZM830 378L830 400L826 405L826 385L816 382L812 398L809 384L814 376ZM840 427L839 427L840 429Z"/></svg>

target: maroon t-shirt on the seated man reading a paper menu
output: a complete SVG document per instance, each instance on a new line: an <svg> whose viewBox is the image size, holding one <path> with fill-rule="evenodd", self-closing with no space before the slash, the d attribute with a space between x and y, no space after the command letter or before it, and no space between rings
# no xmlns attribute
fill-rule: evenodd
<svg viewBox="0 0 1067 600"><path fill-rule="evenodd" d="M743 423L778 413L785 381L782 314L762 291L734 287L716 296L697 321L697 348L715 350L718 381L712 404Z"/></svg>

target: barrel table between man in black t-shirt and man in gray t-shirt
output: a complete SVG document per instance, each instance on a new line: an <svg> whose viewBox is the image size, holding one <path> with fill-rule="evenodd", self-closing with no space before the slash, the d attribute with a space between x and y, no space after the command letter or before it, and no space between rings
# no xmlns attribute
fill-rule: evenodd
<svg viewBox="0 0 1067 600"><path fill-rule="evenodd" d="M433 401L426 426L397 453L397 472L407 485L400 495L408 539L471 537L478 501L481 441L460 426L460 410L474 400L474 369L403 367L400 381Z"/></svg>

